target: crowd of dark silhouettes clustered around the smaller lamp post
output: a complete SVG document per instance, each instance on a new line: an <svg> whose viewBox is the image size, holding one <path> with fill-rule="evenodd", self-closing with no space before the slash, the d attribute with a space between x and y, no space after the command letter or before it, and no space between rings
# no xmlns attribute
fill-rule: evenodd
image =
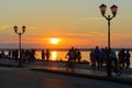
<svg viewBox="0 0 132 88"><path fill-rule="evenodd" d="M0 58L19 62L21 57L22 63L30 63L35 61L35 50L21 50L21 52L19 50L9 50L7 54L4 51L1 51Z"/></svg>

